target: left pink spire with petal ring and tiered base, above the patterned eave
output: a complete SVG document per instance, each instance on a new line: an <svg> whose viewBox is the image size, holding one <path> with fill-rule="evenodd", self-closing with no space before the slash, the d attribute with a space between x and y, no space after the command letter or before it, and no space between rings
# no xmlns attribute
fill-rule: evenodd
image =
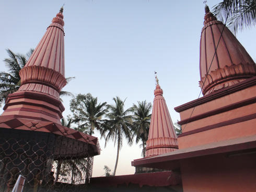
<svg viewBox="0 0 256 192"><path fill-rule="evenodd" d="M21 86L9 94L3 116L43 119L60 124L64 106L60 91L66 85L63 7L20 70Z"/></svg>

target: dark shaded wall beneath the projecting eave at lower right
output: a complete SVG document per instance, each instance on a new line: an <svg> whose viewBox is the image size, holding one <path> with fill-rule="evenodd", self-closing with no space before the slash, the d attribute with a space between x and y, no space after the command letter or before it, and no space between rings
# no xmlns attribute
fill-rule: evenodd
<svg viewBox="0 0 256 192"><path fill-rule="evenodd" d="M184 192L256 191L256 153L216 154L183 159Z"/></svg>

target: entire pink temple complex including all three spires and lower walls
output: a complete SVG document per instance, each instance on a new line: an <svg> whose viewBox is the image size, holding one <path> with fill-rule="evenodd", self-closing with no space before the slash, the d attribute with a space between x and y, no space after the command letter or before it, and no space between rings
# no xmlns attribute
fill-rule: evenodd
<svg viewBox="0 0 256 192"><path fill-rule="evenodd" d="M132 161L136 169L158 170L154 173L90 178L92 157L100 154L98 139L60 121L63 27L62 7L20 71L19 90L6 100L0 116L0 192L11 191L19 174L27 179L24 191L33 192L255 191L256 65L208 6L200 40L203 97L174 108L181 119L178 138L156 78L146 157Z"/></svg>

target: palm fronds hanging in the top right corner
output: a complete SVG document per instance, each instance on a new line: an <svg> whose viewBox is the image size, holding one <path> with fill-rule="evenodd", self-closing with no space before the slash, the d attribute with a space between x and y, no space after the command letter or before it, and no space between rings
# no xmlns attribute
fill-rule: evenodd
<svg viewBox="0 0 256 192"><path fill-rule="evenodd" d="M224 0L214 6L213 13L220 21L227 19L228 28L237 33L256 25L256 1L255 0Z"/></svg>

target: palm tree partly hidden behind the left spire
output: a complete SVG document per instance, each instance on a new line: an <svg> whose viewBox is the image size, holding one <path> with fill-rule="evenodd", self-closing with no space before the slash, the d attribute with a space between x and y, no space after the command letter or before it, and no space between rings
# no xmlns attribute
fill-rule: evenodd
<svg viewBox="0 0 256 192"><path fill-rule="evenodd" d="M29 57L33 53L33 49L30 49L26 55L15 54L13 51L6 50L9 58L4 59L4 63L8 68L8 73L5 71L0 72L0 106L6 100L8 94L16 92L20 87L19 71L26 65ZM74 77L66 78L67 83ZM71 92L61 91L60 96L74 95ZM61 100L61 99L60 99Z"/></svg>

